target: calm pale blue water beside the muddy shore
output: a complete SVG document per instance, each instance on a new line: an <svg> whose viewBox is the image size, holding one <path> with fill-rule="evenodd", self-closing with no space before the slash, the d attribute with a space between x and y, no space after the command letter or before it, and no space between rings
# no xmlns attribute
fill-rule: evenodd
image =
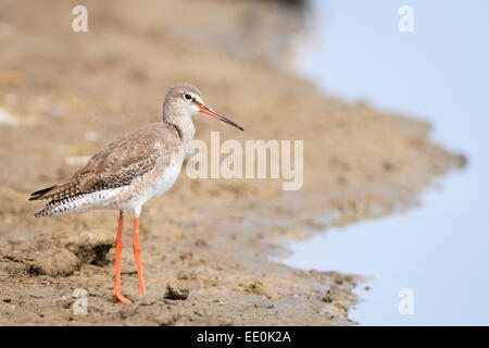
<svg viewBox="0 0 489 348"><path fill-rule="evenodd" d="M425 117L468 166L439 179L421 208L330 228L286 263L373 276L350 315L360 324L488 325L489 3L409 1L412 33L398 28L403 4L313 0L316 37L299 71L328 95Z"/></svg>

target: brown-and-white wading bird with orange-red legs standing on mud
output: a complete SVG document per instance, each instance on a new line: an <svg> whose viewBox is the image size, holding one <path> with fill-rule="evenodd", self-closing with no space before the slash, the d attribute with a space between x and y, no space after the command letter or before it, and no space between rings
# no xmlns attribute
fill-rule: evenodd
<svg viewBox="0 0 489 348"><path fill-rule="evenodd" d="M61 183L35 191L29 200L49 202L34 216L52 216L98 209L120 211L115 238L114 298L129 303L121 293L121 241L124 214L134 212L133 248L139 293L146 294L139 245L142 206L163 195L178 177L196 128L192 115L204 113L241 130L243 128L213 111L190 84L173 86L163 102L162 122L148 124L106 145L88 163Z"/></svg>

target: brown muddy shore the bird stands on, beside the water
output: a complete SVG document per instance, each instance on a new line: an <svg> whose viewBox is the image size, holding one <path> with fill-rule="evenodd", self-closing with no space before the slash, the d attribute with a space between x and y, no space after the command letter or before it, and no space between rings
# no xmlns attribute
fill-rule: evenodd
<svg viewBox="0 0 489 348"><path fill-rule="evenodd" d="M360 276L269 257L327 226L410 207L462 158L431 142L428 124L324 97L275 64L293 59L296 10L85 1L89 30L74 33L75 4L0 2L0 324L352 324ZM141 215L146 297L126 219L122 283L133 303L114 303L117 212L34 219L41 203L27 197L108 141L158 122L167 88L181 80L246 129L196 117L197 138L208 144L211 130L222 141L303 139L304 185L284 191L281 179L183 172ZM87 291L87 314L74 314L76 288Z"/></svg>

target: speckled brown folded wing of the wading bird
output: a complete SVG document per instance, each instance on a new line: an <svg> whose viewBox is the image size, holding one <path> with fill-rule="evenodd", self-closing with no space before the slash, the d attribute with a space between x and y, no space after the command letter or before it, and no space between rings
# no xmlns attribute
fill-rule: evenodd
<svg viewBox="0 0 489 348"><path fill-rule="evenodd" d="M178 132L173 126L149 124L108 144L71 177L33 192L29 200L61 200L129 185L135 177L151 171L156 159L170 159L178 141Z"/></svg>

